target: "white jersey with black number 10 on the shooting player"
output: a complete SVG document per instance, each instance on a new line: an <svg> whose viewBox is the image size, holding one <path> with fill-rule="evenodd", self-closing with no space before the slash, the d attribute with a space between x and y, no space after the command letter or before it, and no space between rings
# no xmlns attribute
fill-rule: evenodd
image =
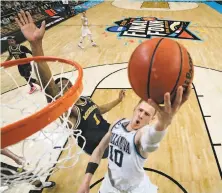
<svg viewBox="0 0 222 193"><path fill-rule="evenodd" d="M112 128L109 143L108 176L113 187L130 191L143 181L143 158L134 143L137 131L127 131L129 120L122 119Z"/></svg>

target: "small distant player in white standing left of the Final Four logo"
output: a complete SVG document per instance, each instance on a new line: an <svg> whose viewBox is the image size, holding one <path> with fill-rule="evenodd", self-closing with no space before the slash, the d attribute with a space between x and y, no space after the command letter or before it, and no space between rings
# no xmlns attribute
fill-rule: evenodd
<svg viewBox="0 0 222 193"><path fill-rule="evenodd" d="M82 12L81 20L82 20L82 36L80 38L80 42L79 42L78 46L80 48L84 49L83 40L88 35L92 46L96 47L97 45L92 39L92 32L89 29L88 18L86 17L86 11Z"/></svg>

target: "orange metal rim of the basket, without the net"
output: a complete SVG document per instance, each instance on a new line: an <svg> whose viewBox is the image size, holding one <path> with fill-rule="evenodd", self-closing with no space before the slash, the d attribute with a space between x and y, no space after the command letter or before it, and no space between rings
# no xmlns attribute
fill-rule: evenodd
<svg viewBox="0 0 222 193"><path fill-rule="evenodd" d="M70 106L75 103L81 95L83 90L82 79L83 69L82 67L73 61L56 58L56 57L45 57L37 56L32 58L24 58L19 60L7 61L1 64L1 67L9 68L18 64L26 64L31 61L51 61L51 62L63 62L74 66L78 70L78 77L75 84L59 99L48 104L40 111L14 123L11 123L1 128L1 148L5 148L9 145L13 145L30 135L41 130L49 123L56 120L62 113L66 112Z"/></svg>

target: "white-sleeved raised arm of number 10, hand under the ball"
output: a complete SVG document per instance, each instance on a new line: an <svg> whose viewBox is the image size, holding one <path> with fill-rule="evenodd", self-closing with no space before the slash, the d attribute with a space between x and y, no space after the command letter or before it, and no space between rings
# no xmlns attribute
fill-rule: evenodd
<svg viewBox="0 0 222 193"><path fill-rule="evenodd" d="M145 126L135 137L135 143L140 150L140 153L147 157L147 152L153 152L159 147L160 141L163 139L168 126L171 124L173 117L178 112L180 107L188 100L191 91L191 86L187 92L183 94L183 87L177 89L176 99L171 105L170 94L164 95L164 107L160 107L151 99L148 103L157 110L157 121L154 125Z"/></svg>

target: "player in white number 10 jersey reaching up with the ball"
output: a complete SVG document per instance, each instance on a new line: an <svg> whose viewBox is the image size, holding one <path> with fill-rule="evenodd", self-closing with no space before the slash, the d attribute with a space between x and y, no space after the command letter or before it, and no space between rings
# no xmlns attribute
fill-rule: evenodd
<svg viewBox="0 0 222 193"><path fill-rule="evenodd" d="M158 149L174 115L188 99L190 90L189 87L183 95L180 86L172 105L170 94L166 93L164 107L151 99L140 101L130 120L115 122L94 150L78 193L89 193L92 176L108 146L108 172L99 193L157 193L157 187L150 182L143 165L149 154ZM155 113L156 121L151 125Z"/></svg>

